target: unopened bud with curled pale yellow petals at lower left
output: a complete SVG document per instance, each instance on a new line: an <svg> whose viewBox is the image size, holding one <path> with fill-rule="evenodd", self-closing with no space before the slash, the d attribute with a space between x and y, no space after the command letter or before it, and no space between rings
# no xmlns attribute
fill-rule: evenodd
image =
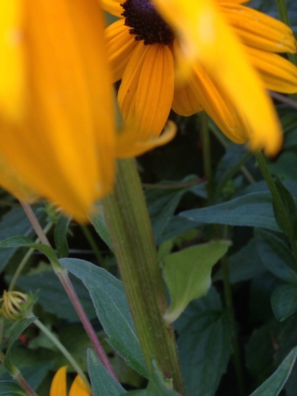
<svg viewBox="0 0 297 396"><path fill-rule="evenodd" d="M21 292L6 292L4 290L0 302L0 315L10 320L19 320L27 317L35 298Z"/></svg>

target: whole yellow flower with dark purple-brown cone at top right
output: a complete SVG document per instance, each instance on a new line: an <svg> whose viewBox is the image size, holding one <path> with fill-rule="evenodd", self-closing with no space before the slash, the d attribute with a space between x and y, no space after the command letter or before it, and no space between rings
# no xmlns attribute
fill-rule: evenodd
<svg viewBox="0 0 297 396"><path fill-rule="evenodd" d="M232 141L268 154L280 148L265 90L297 91L297 68L274 53L295 52L296 41L286 25L243 2L101 0L120 17L105 30L108 56L113 81L122 78L123 117L136 120L140 140L160 134L170 108L185 116L203 109Z"/></svg>

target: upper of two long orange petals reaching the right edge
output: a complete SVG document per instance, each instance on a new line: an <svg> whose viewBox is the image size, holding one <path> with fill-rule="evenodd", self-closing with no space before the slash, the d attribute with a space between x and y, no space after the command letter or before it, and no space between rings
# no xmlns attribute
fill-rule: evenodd
<svg viewBox="0 0 297 396"><path fill-rule="evenodd" d="M273 52L297 51L292 30L284 23L243 5L220 2L220 11L248 46Z"/></svg>

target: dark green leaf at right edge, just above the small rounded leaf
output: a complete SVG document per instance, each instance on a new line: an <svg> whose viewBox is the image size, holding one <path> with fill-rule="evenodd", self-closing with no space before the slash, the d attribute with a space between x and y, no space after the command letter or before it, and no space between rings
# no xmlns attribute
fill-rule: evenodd
<svg viewBox="0 0 297 396"><path fill-rule="evenodd" d="M292 250L275 234L255 230L256 247L264 267L284 282L297 285L295 258Z"/></svg>

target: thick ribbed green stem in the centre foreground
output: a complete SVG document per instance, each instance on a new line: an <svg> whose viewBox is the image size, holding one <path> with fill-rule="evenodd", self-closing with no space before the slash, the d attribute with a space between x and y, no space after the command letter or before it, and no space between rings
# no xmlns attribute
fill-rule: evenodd
<svg viewBox="0 0 297 396"><path fill-rule="evenodd" d="M165 378L173 379L174 389L185 395L173 328L163 319L168 303L134 159L118 161L115 191L103 207L148 372L154 358Z"/></svg>

